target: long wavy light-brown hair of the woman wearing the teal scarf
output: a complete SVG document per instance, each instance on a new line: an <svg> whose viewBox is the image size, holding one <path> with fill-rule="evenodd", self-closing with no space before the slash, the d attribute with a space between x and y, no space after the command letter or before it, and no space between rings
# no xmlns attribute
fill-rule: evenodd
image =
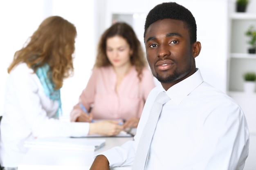
<svg viewBox="0 0 256 170"><path fill-rule="evenodd" d="M38 29L16 51L8 73L19 63L26 63L34 72L40 66L48 64L54 88L63 85L63 79L74 73L73 53L75 51L76 27L60 16L51 16L43 20Z"/></svg>

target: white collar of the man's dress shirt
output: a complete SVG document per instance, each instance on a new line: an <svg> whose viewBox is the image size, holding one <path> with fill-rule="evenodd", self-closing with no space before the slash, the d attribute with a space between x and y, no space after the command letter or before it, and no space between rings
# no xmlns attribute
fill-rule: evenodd
<svg viewBox="0 0 256 170"><path fill-rule="evenodd" d="M173 100L173 102L175 102L175 104L179 105L180 102L202 82L203 78L201 72L199 68L196 68L196 72L193 75L171 86L171 88L166 91L166 94ZM162 91L165 91L163 87Z"/></svg>

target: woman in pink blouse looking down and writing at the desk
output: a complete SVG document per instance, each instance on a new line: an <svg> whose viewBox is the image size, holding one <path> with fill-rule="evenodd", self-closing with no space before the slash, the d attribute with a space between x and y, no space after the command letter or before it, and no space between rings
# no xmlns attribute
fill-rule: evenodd
<svg viewBox="0 0 256 170"><path fill-rule="evenodd" d="M125 128L137 127L154 87L153 75L132 27L124 22L112 24L101 35L92 75L71 112L71 121L122 119Z"/></svg>

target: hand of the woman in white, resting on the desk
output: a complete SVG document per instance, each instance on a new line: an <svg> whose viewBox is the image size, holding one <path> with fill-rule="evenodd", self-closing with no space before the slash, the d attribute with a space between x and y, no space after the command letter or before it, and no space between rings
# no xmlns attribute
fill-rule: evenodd
<svg viewBox="0 0 256 170"><path fill-rule="evenodd" d="M90 123L89 134L99 134L104 136L118 135L124 129L123 125L119 125L119 121L103 120Z"/></svg>

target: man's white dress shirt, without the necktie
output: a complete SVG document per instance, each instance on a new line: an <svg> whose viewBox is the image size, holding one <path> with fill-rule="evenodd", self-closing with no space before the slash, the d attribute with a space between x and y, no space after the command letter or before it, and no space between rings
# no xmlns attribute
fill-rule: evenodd
<svg viewBox="0 0 256 170"><path fill-rule="evenodd" d="M111 167L132 165L139 138L157 94L149 94L134 141L101 154ZM150 146L146 170L243 170L249 130L240 106L203 81L200 70L166 91L171 98Z"/></svg>

